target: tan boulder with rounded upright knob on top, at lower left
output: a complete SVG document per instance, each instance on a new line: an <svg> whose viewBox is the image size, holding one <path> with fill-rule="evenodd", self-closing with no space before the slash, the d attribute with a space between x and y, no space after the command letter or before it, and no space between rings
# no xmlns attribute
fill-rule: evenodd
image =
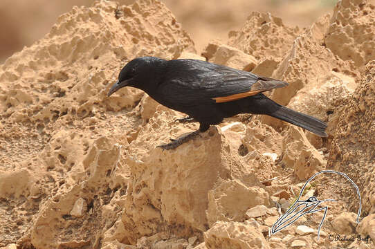
<svg viewBox="0 0 375 249"><path fill-rule="evenodd" d="M94 223L104 228L116 221L120 210L113 206L120 199L117 190L123 187L118 184L124 183L116 183L120 169L112 167L116 167L119 156L120 146L113 140L104 137L95 140L84 160L90 174L81 179L82 184L61 187L53 199L42 205L30 231L30 241L35 247L89 246L100 232L89 229ZM122 178L121 182L124 181ZM91 219L91 216L96 219ZM66 227L63 224L67 224ZM51 230L51 227L55 229Z"/></svg>

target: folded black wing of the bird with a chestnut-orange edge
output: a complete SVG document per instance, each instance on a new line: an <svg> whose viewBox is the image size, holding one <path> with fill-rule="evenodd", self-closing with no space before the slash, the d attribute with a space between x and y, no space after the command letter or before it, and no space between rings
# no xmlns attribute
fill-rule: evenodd
<svg viewBox="0 0 375 249"><path fill-rule="evenodd" d="M221 103L287 86L288 83L228 66L177 59L160 86L163 95L181 105Z"/></svg>

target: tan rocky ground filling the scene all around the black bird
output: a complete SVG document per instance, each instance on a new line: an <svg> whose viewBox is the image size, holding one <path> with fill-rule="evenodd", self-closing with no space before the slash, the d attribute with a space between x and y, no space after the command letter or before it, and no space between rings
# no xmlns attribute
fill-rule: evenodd
<svg viewBox="0 0 375 249"><path fill-rule="evenodd" d="M228 39L208 42L224 31L190 35L179 15L213 20L212 5L179 12L173 4L167 1L176 16L156 0L73 7L1 64L0 248L374 248L375 7L343 0L302 24L264 12L272 1L262 12L241 4L233 11L247 14L228 15ZM203 59L289 82L270 98L324 120L329 136L244 114L177 149L156 148L198 125L174 122L183 113L138 89L107 98L120 68L145 55ZM320 238L323 212L270 237L322 169L358 185L360 222L352 185L322 174L302 196L336 200L319 206L329 207Z"/></svg>

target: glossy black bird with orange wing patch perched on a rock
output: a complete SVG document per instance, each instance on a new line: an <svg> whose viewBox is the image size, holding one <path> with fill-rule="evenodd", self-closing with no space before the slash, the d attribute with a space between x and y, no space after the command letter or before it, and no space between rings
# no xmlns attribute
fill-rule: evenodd
<svg viewBox="0 0 375 249"><path fill-rule="evenodd" d="M325 122L277 104L263 94L288 85L282 80L199 59L138 57L122 68L107 97L122 87L133 86L163 106L186 113L180 122L199 122L198 130L159 145L163 150L176 149L207 131L210 125L239 113L271 116L327 137Z"/></svg>

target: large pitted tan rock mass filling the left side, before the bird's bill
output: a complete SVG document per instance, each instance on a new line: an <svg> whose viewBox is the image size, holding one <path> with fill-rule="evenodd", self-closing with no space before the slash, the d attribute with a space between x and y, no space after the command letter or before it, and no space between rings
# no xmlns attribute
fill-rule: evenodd
<svg viewBox="0 0 375 249"><path fill-rule="evenodd" d="M127 165L120 151L141 123L127 111L144 94L107 92L129 59L183 51L194 53L194 44L163 3L95 1L61 15L50 33L0 66L0 202L12 210L0 211L0 234L7 234L0 246L17 239L26 248L98 245L121 211ZM82 203L73 216L77 199L87 210Z"/></svg>

